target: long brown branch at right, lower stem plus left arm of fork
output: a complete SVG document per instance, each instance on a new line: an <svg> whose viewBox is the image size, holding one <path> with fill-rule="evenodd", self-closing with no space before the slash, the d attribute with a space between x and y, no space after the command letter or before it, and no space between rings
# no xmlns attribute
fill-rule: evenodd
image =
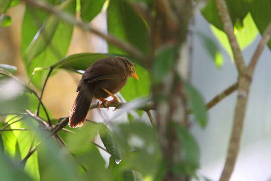
<svg viewBox="0 0 271 181"><path fill-rule="evenodd" d="M237 155L239 152L241 134L244 124L244 116L247 106L247 100L249 96L249 88L251 84L252 73L245 67L244 58L240 47L237 43L234 35L233 25L229 16L226 2L224 0L216 0L217 10L224 28L224 31L228 37L233 52L235 65L238 70L238 98L234 110L234 120L231 132L231 138L229 142L227 158L224 164L220 181L228 181L232 175L235 167Z"/></svg>

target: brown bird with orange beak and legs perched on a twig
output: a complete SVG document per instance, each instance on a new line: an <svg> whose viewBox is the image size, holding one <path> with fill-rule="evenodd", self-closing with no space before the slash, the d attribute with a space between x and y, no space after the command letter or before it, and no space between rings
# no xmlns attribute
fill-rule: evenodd
<svg viewBox="0 0 271 181"><path fill-rule="evenodd" d="M113 97L109 103L117 101L114 96L126 84L128 77L139 79L134 65L123 57L102 58L83 73L76 92L78 95L73 103L69 116L69 127L82 126L93 97L100 100L103 107L105 98Z"/></svg>

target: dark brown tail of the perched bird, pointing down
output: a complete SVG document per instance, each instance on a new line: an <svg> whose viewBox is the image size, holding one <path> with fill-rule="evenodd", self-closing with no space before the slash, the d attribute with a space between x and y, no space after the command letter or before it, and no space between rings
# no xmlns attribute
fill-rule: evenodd
<svg viewBox="0 0 271 181"><path fill-rule="evenodd" d="M87 85L80 87L80 91L73 103L69 115L69 127L76 128L83 125L89 106L92 102L93 93L89 92Z"/></svg>

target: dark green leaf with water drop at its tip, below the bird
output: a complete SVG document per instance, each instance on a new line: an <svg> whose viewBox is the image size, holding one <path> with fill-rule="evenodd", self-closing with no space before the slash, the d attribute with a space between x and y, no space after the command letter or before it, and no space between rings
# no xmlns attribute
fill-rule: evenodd
<svg viewBox="0 0 271 181"><path fill-rule="evenodd" d="M106 125L102 124L102 129L100 129L100 137L103 141L106 150L111 154L111 156L115 160L122 159L122 149L118 142L115 140L113 133L106 127Z"/></svg>

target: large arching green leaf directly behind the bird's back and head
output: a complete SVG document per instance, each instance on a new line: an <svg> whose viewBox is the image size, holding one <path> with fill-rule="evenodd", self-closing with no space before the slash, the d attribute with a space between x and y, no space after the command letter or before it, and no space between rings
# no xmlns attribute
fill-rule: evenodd
<svg viewBox="0 0 271 181"><path fill-rule="evenodd" d="M133 63L136 63L134 59L126 55L111 53L78 53L59 60L58 62L51 65L51 68L65 68L78 72L78 70L85 70L88 66L101 58L115 56L126 57ZM146 97L150 94L149 72L139 65L135 65L135 69L140 80L138 81L135 78L129 78L127 84L120 91L126 101L131 101L138 97Z"/></svg>

